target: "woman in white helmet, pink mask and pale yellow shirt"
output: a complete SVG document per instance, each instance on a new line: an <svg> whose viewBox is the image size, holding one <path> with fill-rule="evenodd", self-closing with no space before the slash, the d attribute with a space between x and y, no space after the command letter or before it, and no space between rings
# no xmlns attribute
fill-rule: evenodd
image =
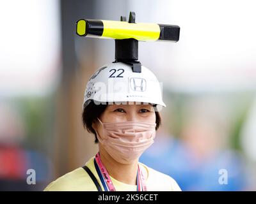
<svg viewBox="0 0 256 204"><path fill-rule="evenodd" d="M141 72L123 62L100 68L86 85L83 104L83 124L99 152L45 191L180 191L171 177L138 161L154 142L161 106L161 86L144 66Z"/></svg>

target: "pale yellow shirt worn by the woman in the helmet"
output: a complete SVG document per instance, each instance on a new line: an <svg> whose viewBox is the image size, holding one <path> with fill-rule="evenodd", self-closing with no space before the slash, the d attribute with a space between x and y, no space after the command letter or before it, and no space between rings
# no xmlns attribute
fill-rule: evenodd
<svg viewBox="0 0 256 204"><path fill-rule="evenodd" d="M95 175L98 180L102 191L104 187L102 186L99 175L95 169L93 163L94 157L92 157L87 163L86 166L90 168L93 175ZM172 177L165 175L159 171L149 168L145 164L139 163L140 168L145 168L147 170L147 191L181 191L177 182L175 182ZM111 176L110 176L111 177ZM136 185L124 184L118 180L111 177L111 180L115 186L116 191L136 191ZM83 168L77 168L74 171L71 171L62 177L54 180L49 184L44 191L97 191L97 187L93 183L91 177Z"/></svg>

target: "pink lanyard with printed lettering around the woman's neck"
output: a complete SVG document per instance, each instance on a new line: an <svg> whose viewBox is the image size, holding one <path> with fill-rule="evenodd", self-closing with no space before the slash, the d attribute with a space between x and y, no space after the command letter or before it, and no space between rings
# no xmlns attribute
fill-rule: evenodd
<svg viewBox="0 0 256 204"><path fill-rule="evenodd" d="M106 186L108 186L109 191L116 191L114 184L110 179L108 171L106 170L105 166L101 162L99 152L95 156L95 161L97 163L97 166L99 166L100 174L102 176L101 178L103 178L103 180L104 180L104 183L102 182L102 185L104 186L104 184L106 184ZM100 177L100 175L99 175L99 177ZM102 179L100 179L100 180L102 180ZM144 175L144 172L141 171L139 164L138 164L138 173L137 173L137 191L147 191L145 175Z"/></svg>

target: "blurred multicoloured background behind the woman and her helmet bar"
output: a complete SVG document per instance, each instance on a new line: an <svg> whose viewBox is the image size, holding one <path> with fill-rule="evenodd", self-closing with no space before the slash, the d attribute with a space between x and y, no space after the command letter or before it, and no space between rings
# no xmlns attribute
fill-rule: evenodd
<svg viewBox="0 0 256 204"><path fill-rule="evenodd" d="M115 41L76 36L80 18L180 26L180 40L140 42L163 82L163 124L140 161L184 191L256 190L253 0L0 3L0 191L42 191L97 152L81 120L86 82ZM28 184L35 170L36 184ZM225 171L223 171L225 170ZM221 183L223 172L228 180Z"/></svg>

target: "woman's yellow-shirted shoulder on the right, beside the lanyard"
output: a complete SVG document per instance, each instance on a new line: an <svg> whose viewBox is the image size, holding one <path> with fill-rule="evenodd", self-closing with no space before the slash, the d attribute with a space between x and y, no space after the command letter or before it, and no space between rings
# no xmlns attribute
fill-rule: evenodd
<svg viewBox="0 0 256 204"><path fill-rule="evenodd" d="M153 168L150 168L145 164L142 164L142 166L147 169L148 173L148 191L181 191L177 182L169 175L154 170Z"/></svg>

